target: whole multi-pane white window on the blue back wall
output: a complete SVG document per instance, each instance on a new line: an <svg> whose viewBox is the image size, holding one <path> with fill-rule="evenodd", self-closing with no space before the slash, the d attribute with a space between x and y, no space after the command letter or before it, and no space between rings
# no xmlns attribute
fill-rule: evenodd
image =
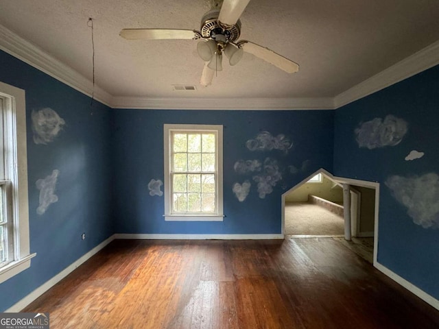
<svg viewBox="0 0 439 329"><path fill-rule="evenodd" d="M222 125L165 125L165 220L222 221Z"/></svg>

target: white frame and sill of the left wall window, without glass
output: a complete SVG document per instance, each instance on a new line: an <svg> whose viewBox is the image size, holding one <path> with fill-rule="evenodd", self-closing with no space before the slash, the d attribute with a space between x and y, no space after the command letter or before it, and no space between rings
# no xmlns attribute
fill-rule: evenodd
<svg viewBox="0 0 439 329"><path fill-rule="evenodd" d="M13 223L12 258L0 267L0 283L30 267L29 246L29 201L27 195L27 147L25 90L0 82L0 97L3 100L3 141L5 152L4 184L9 186L8 204Z"/></svg>

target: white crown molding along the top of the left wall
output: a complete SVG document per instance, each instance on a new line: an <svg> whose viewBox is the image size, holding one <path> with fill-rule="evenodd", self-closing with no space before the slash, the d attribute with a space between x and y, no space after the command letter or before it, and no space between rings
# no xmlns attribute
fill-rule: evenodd
<svg viewBox="0 0 439 329"><path fill-rule="evenodd" d="M89 97L93 95L97 101L110 106L112 97L109 93L96 85L93 91L93 83L86 77L71 69L70 66L60 62L60 60L50 56L42 49L36 47L36 45L16 35L3 25L0 25L0 49L54 77L56 80L67 84L67 86L71 86L71 88Z"/></svg>

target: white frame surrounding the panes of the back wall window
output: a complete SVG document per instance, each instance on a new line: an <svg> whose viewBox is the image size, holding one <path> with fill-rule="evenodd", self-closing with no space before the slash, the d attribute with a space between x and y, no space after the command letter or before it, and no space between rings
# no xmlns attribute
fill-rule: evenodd
<svg viewBox="0 0 439 329"><path fill-rule="evenodd" d="M172 132L215 132L217 135L217 211L215 214L185 214L173 215L171 213L171 133ZM165 196L165 221L223 221L223 126L222 125L163 125L164 141L164 173L163 184Z"/></svg>

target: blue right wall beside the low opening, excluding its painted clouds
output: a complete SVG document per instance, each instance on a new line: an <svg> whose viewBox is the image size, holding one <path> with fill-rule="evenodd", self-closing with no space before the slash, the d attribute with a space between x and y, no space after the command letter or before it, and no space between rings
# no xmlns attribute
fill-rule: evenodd
<svg viewBox="0 0 439 329"><path fill-rule="evenodd" d="M407 123L407 133L400 143L375 149L359 147L355 129L360 123L384 119L388 114ZM436 299L439 299L439 182L435 178L439 174L438 127L439 66L435 66L336 110L333 165L337 176L380 183L378 261ZM405 160L412 150L425 155ZM389 184L392 176L399 177L398 185ZM416 184L419 188L414 191ZM424 226L436 223L436 228L419 223Z"/></svg>

